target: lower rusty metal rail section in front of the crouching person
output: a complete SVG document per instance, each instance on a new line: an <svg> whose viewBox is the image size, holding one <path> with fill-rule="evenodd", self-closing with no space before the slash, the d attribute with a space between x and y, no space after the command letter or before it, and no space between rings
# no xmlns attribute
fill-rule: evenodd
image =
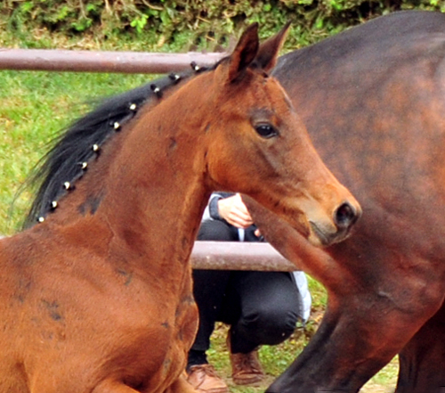
<svg viewBox="0 0 445 393"><path fill-rule="evenodd" d="M196 269L209 270L298 270L269 243L256 242L195 242L191 264Z"/></svg>

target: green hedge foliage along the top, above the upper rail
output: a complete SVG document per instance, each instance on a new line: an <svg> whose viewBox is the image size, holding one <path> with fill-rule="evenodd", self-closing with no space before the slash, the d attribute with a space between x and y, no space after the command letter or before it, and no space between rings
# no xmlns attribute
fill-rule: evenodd
<svg viewBox="0 0 445 393"><path fill-rule="evenodd" d="M413 8L445 11L441 0L4 0L0 23L22 38L20 45L31 47L45 43L30 35L47 31L177 51L227 47L254 21L270 36L292 20L287 47L295 48L377 15Z"/></svg>

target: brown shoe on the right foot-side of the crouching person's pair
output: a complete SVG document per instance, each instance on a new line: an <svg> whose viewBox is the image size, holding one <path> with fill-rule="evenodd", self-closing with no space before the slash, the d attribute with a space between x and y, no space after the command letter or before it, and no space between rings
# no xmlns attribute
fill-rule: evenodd
<svg viewBox="0 0 445 393"><path fill-rule="evenodd" d="M231 334L227 336L227 347L231 354L231 378L236 385L251 385L263 381L264 372L258 351L248 354L231 353Z"/></svg>

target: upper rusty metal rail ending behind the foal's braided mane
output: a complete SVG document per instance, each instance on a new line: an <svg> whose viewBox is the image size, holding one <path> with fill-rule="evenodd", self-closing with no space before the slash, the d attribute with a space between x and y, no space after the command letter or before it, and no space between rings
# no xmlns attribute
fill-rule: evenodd
<svg viewBox="0 0 445 393"><path fill-rule="evenodd" d="M191 61L201 66L213 65L224 54L0 48L0 70L166 74L189 69Z"/></svg>

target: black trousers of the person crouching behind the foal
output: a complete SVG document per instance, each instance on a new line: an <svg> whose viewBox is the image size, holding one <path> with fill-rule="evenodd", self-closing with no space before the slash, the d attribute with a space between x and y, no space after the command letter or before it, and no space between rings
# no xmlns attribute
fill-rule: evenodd
<svg viewBox="0 0 445 393"><path fill-rule="evenodd" d="M247 230L246 240L253 236L253 229ZM198 240L238 241L238 230L223 221L205 221ZM193 279L199 327L190 352L209 348L216 321L231 325L232 353L279 344L294 332L300 298L291 274L194 270ZM191 357L191 363L202 363Z"/></svg>

